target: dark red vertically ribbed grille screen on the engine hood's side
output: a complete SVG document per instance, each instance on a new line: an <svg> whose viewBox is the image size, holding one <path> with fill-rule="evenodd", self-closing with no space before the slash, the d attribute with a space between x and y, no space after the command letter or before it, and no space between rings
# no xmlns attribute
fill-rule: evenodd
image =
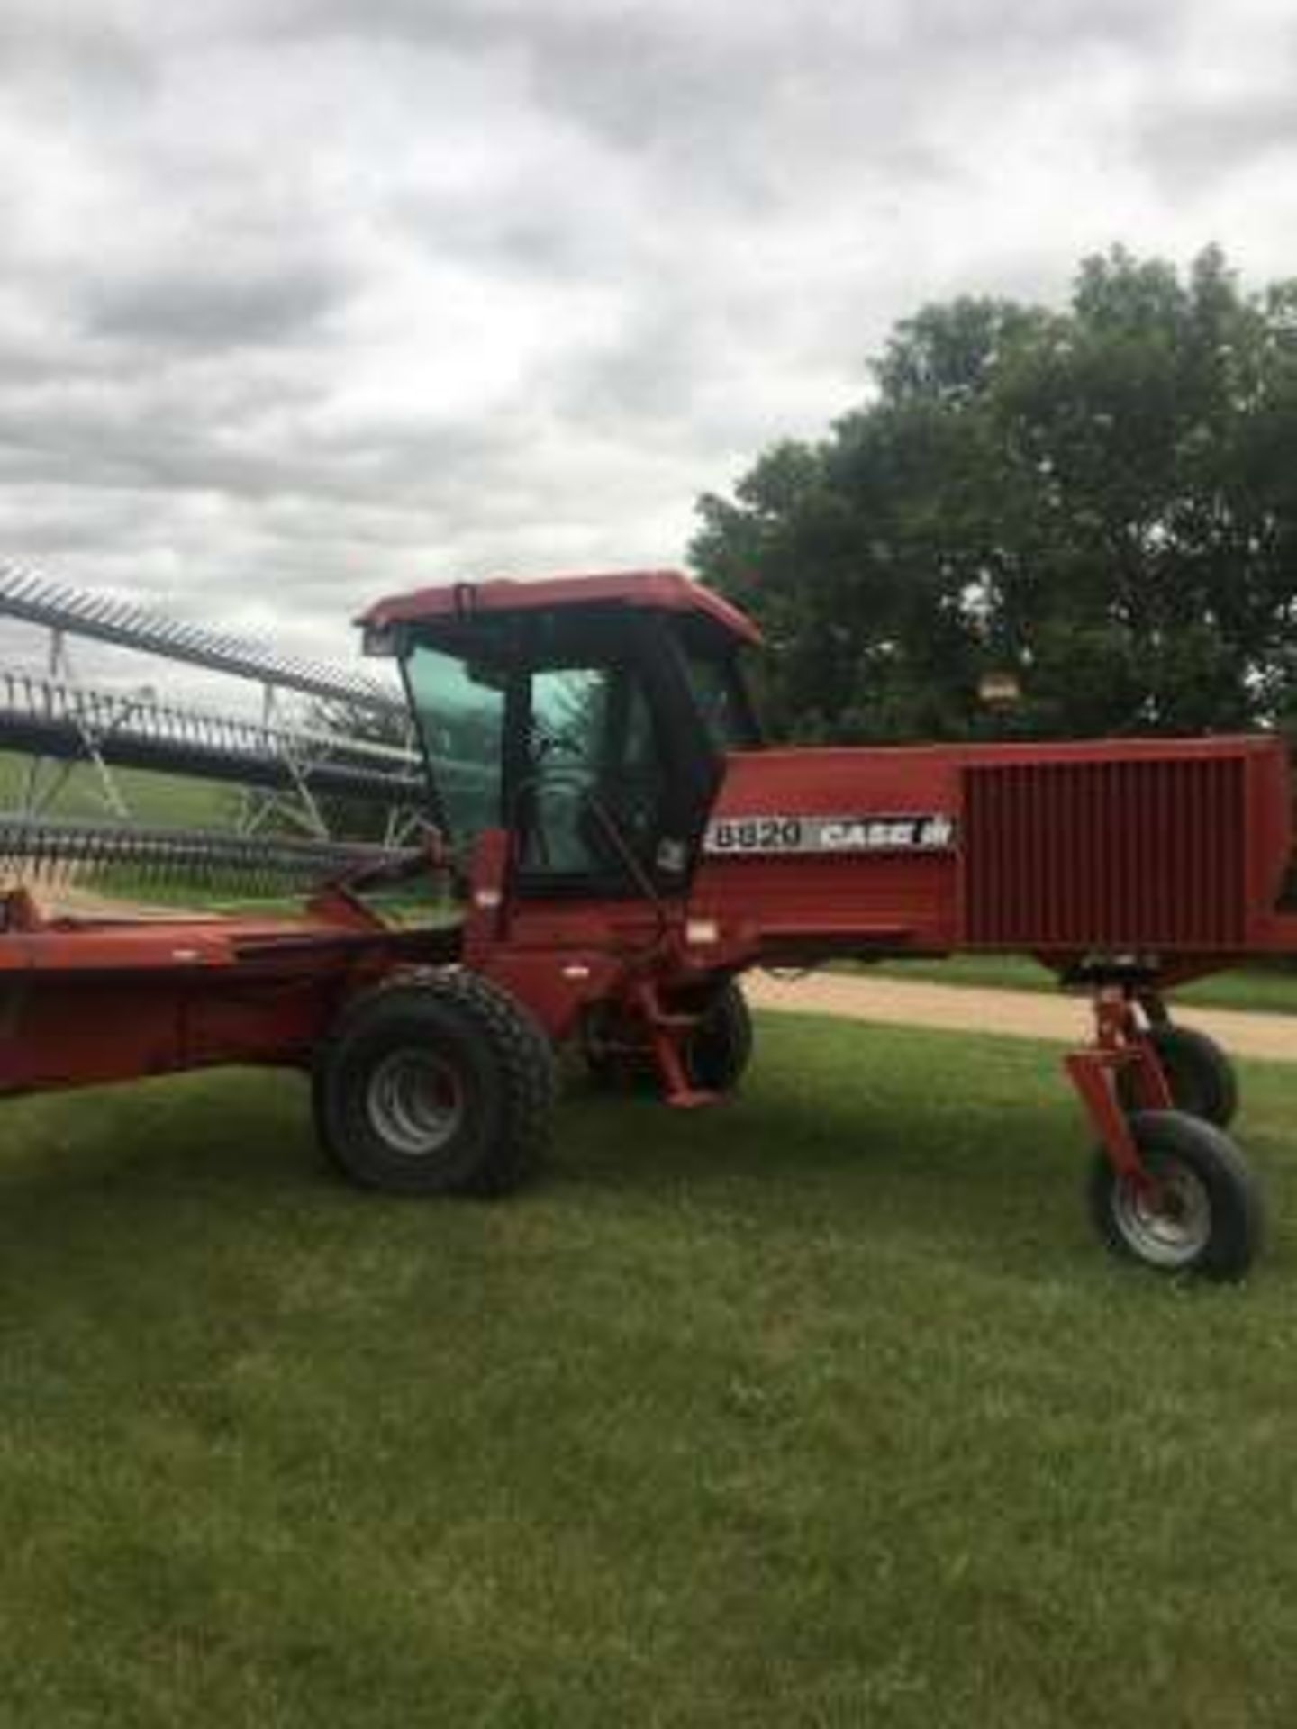
<svg viewBox="0 0 1297 1729"><path fill-rule="evenodd" d="M1240 757L968 766L963 790L968 942L1242 944Z"/></svg>

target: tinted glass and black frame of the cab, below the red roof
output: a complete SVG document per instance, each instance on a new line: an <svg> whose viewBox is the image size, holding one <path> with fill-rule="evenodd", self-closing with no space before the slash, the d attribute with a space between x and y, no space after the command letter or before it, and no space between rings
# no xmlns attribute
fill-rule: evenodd
<svg viewBox="0 0 1297 1729"><path fill-rule="evenodd" d="M564 609L422 626L405 645L455 849L507 828L524 897L683 894L726 740L655 614Z"/></svg>

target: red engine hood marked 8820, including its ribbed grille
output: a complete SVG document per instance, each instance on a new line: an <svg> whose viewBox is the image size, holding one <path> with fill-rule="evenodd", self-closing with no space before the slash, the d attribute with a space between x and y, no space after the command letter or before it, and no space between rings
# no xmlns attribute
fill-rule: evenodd
<svg viewBox="0 0 1297 1729"><path fill-rule="evenodd" d="M1275 738L730 759L700 916L766 958L842 949L1235 954L1297 946Z"/></svg>

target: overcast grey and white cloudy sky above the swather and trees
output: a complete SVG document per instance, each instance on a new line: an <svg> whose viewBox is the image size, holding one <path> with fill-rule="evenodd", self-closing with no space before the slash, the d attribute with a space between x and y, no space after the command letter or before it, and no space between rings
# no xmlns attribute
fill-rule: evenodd
<svg viewBox="0 0 1297 1729"><path fill-rule="evenodd" d="M332 655L676 562L1112 240L1297 273L1285 0L0 0L0 558Z"/></svg>

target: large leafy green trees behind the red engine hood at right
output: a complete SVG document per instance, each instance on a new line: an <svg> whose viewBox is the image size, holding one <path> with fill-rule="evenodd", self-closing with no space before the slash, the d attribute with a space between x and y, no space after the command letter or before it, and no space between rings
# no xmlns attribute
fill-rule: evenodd
<svg viewBox="0 0 1297 1729"><path fill-rule="evenodd" d="M1297 716L1297 284L1122 249L1062 311L901 323L825 439L704 496L695 567L776 654L801 738L1029 737Z"/></svg>

